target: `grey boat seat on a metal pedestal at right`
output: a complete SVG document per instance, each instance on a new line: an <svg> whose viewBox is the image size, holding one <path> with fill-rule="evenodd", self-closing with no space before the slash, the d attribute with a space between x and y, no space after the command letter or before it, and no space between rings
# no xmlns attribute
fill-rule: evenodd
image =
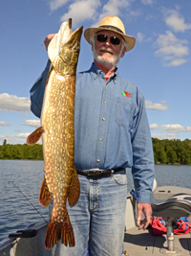
<svg viewBox="0 0 191 256"><path fill-rule="evenodd" d="M181 250L174 247L174 228L180 217L191 215L191 195L177 194L171 198L158 199L152 194L153 216L162 217L166 222L167 248L160 248L162 254L180 255Z"/></svg>

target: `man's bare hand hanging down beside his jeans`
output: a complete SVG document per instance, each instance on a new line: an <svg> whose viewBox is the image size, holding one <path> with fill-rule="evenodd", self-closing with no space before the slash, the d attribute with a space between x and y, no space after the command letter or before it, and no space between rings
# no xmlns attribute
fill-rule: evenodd
<svg viewBox="0 0 191 256"><path fill-rule="evenodd" d="M144 220L141 220L142 213L144 213ZM138 217L137 220L140 221L138 223L138 229L143 228L144 230L147 228L147 226L150 223L151 220L151 215L152 215L152 208L150 203L146 202L138 202Z"/></svg>

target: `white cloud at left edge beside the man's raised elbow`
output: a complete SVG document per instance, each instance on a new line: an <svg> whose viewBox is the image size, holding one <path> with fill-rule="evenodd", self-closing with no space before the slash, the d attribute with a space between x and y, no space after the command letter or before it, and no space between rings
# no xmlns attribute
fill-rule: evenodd
<svg viewBox="0 0 191 256"><path fill-rule="evenodd" d="M0 94L0 111L30 111L30 99L25 97L17 97L8 93Z"/></svg>

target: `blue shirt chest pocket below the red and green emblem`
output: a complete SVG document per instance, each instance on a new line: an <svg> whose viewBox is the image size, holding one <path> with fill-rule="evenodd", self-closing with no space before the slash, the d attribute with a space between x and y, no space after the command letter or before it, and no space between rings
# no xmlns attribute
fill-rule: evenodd
<svg viewBox="0 0 191 256"><path fill-rule="evenodd" d="M119 126L129 127L133 121L133 99L132 98L116 98L115 120Z"/></svg>

